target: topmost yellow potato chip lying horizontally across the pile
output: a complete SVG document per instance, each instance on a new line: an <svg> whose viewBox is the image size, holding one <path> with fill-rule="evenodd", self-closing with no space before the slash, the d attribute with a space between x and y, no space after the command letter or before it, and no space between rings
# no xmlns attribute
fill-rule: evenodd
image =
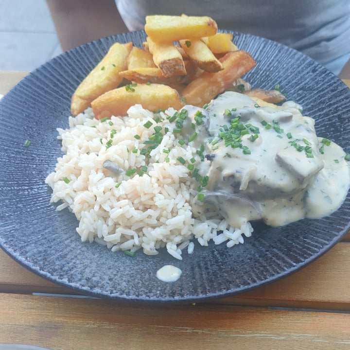
<svg viewBox="0 0 350 350"><path fill-rule="evenodd" d="M201 38L217 32L216 22L207 16L146 16L144 30L152 40L173 42Z"/></svg>

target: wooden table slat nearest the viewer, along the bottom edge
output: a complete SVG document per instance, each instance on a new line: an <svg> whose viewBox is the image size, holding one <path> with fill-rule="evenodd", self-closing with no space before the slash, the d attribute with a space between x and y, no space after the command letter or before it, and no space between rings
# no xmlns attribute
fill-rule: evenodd
<svg viewBox="0 0 350 350"><path fill-rule="evenodd" d="M0 342L62 350L322 350L349 349L350 344L350 315L343 313L320 317L227 305L154 307L0 294L0 318Z"/></svg>

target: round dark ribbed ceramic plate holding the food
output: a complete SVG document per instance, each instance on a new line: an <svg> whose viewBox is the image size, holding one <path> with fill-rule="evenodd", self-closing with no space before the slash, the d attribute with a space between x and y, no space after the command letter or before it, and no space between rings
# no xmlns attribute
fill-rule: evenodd
<svg viewBox="0 0 350 350"><path fill-rule="evenodd" d="M80 293L132 301L190 302L243 292L277 280L312 262L350 227L350 195L343 206L320 220L285 227L254 225L244 245L195 246L183 261L162 251L130 258L97 244L81 243L77 221L57 212L45 185L62 153L57 127L68 127L70 96L115 41L141 46L145 35L113 36L62 54L24 78L0 101L0 245L38 275ZM331 72L297 51L252 35L234 41L257 61L246 75L253 87L274 88L304 107L319 136L350 153L350 89ZM31 140L24 147L25 140ZM182 276L157 280L156 271L174 264Z"/></svg>

